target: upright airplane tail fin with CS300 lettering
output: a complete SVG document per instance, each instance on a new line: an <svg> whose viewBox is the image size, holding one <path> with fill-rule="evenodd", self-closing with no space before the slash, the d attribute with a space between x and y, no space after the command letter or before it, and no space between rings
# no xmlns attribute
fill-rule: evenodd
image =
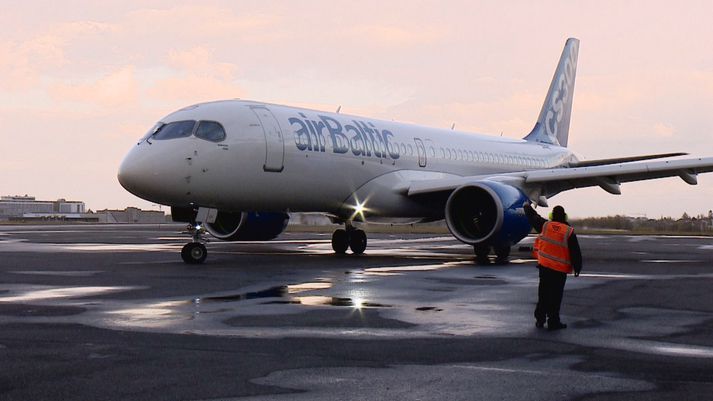
<svg viewBox="0 0 713 401"><path fill-rule="evenodd" d="M542 105L540 116L537 118L535 127L525 137L526 141L567 146L578 54L579 40L567 39L562 56L560 56L560 62L555 70L555 76L552 78L550 90L547 91L545 103Z"/></svg>

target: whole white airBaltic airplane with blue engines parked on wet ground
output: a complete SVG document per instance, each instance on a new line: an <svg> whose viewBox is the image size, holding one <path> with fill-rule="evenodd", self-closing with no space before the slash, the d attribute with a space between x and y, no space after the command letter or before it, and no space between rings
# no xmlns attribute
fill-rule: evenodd
<svg viewBox="0 0 713 401"><path fill-rule="evenodd" d="M162 118L121 163L120 184L168 205L190 223L181 256L203 263L202 233L226 241L266 241L290 212L316 212L343 224L337 254L362 254L359 222L445 219L451 234L506 263L530 233L523 206L599 186L680 177L697 183L713 157L685 153L580 161L567 148L579 40L569 38L533 129L520 140L248 100L195 104Z"/></svg>

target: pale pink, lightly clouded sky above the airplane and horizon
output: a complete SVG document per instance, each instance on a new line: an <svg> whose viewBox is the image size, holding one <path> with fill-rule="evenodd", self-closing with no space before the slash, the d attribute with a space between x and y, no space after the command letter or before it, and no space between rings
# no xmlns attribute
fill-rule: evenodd
<svg viewBox="0 0 713 401"><path fill-rule="evenodd" d="M521 138L580 39L582 159L713 156L713 2L1 1L0 194L157 205L116 179L156 121L243 98ZM713 174L558 195L570 216L713 209Z"/></svg>

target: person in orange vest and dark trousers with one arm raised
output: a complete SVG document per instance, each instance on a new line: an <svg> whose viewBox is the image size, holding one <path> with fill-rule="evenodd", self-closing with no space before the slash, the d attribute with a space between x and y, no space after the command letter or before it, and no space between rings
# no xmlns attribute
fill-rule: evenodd
<svg viewBox="0 0 713 401"><path fill-rule="evenodd" d="M579 241L574 229L567 223L567 214L562 206L552 209L550 221L537 214L529 202L524 209L530 225L540 233L533 249L540 271L535 327L544 328L547 322L547 330L565 329L567 325L560 320L560 305L567 274L574 272L577 277L582 270Z"/></svg>

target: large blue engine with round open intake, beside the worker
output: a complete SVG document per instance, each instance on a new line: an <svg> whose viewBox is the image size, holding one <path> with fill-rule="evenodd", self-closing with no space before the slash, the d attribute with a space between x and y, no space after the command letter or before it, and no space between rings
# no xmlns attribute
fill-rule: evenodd
<svg viewBox="0 0 713 401"><path fill-rule="evenodd" d="M484 180L463 185L446 202L446 224L466 244L509 247L530 233L525 202L528 197L507 184Z"/></svg>

